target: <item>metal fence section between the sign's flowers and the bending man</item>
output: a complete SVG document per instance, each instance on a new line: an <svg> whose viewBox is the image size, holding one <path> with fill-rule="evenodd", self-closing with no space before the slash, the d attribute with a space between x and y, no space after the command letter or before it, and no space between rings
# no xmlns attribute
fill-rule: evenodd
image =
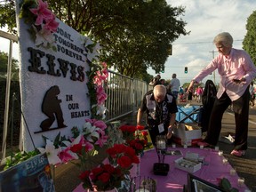
<svg viewBox="0 0 256 192"><path fill-rule="evenodd" d="M142 97L148 92L148 89L152 88L144 81L108 70L108 82L105 87L108 94L107 121L132 114L140 108Z"/></svg>

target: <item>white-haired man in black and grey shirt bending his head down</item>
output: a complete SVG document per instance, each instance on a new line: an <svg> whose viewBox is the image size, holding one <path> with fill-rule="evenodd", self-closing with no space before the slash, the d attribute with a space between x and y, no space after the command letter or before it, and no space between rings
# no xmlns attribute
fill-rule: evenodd
<svg viewBox="0 0 256 192"><path fill-rule="evenodd" d="M140 125L145 111L148 131L153 144L156 144L156 135L166 134L167 139L171 139L178 108L172 93L167 92L163 84L157 84L154 90L150 90L144 95L138 110L137 125Z"/></svg>

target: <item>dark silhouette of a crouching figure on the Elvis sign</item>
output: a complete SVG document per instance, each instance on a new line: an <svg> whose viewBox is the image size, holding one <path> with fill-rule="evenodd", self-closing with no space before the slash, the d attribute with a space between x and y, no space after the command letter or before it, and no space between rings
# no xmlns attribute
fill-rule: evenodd
<svg viewBox="0 0 256 192"><path fill-rule="evenodd" d="M55 116L57 119L58 128L67 127L67 125L64 124L63 113L60 108L61 100L58 100L57 96L59 94L59 86L54 85L44 95L42 111L46 116L48 116L48 118L42 121L42 123L40 124L40 127L43 131L47 131L50 129L51 125L55 120Z"/></svg>

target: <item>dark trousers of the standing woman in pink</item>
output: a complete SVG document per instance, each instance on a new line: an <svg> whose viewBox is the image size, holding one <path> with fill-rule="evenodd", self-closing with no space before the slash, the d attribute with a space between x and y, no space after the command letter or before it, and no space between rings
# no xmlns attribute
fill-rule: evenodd
<svg viewBox="0 0 256 192"><path fill-rule="evenodd" d="M249 100L250 94L248 88L239 99L234 100L233 102L229 99L226 92L221 95L220 99L216 99L213 104L209 128L204 141L214 146L217 145L220 137L222 116L228 106L232 103L236 122L236 134L234 142L235 149L247 149Z"/></svg>

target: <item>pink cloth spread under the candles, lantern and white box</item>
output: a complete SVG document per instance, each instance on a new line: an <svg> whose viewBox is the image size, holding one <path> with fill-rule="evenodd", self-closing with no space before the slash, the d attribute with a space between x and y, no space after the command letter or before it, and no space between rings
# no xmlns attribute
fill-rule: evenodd
<svg viewBox="0 0 256 192"><path fill-rule="evenodd" d="M239 189L239 191L244 191L247 189L245 185L238 185L238 175L230 174L230 169L232 166L228 164L223 164L222 159L224 156L219 156L218 151L212 148L168 148L168 150L180 150L183 156L187 152L197 153L199 156L204 156L204 161L208 164L202 164L202 167L197 172L193 174L197 177L207 180L212 184L218 185L218 179L223 177L227 178L233 188ZM156 150L148 151L141 157L140 163L140 176L148 176L156 180L156 191L183 191L183 186L187 185L188 172L182 171L178 168L175 168L174 161L181 156L165 156L164 163L170 165L170 171L167 176L155 175L153 172L153 164L157 163L158 157L156 155Z"/></svg>

